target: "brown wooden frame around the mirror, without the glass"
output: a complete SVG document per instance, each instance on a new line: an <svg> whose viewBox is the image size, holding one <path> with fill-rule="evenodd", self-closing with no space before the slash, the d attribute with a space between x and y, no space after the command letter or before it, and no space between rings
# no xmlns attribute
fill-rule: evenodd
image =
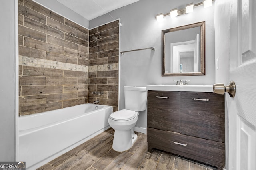
<svg viewBox="0 0 256 170"><path fill-rule="evenodd" d="M201 70L200 72L187 72L187 73L165 73L165 34L168 32L174 32L179 30L185 30L200 26L200 47L201 47ZM179 26L176 28L170 28L162 30L162 76L191 76L191 75L205 75L205 21L189 24L185 26Z"/></svg>

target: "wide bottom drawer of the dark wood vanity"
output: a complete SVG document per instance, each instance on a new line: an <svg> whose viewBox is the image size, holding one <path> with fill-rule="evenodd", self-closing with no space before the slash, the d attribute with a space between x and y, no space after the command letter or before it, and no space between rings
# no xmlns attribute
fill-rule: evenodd
<svg viewBox="0 0 256 170"><path fill-rule="evenodd" d="M225 166L225 144L222 142L153 128L147 128L147 142L148 147L150 147L148 150L152 148L164 150L216 166L218 169L222 169ZM184 144L184 146L181 144Z"/></svg>

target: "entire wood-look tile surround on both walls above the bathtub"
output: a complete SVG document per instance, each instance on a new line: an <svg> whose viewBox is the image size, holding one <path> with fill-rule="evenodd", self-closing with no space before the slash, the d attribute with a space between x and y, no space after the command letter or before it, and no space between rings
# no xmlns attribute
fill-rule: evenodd
<svg viewBox="0 0 256 170"><path fill-rule="evenodd" d="M32 0L18 13L20 115L96 100L118 110L117 21L89 31Z"/></svg>

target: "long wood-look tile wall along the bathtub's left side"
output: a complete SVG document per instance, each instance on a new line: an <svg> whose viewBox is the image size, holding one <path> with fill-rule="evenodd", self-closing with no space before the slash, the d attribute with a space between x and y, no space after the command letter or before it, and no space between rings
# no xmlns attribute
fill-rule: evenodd
<svg viewBox="0 0 256 170"><path fill-rule="evenodd" d="M32 0L18 24L20 115L88 103L89 30Z"/></svg>

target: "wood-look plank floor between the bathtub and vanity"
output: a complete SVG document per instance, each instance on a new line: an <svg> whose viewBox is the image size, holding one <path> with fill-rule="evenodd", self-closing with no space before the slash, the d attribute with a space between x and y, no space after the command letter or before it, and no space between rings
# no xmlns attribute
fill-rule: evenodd
<svg viewBox="0 0 256 170"><path fill-rule="evenodd" d="M109 128L37 170L216 170L159 150L149 153L146 134L137 134L132 148L116 152Z"/></svg>

